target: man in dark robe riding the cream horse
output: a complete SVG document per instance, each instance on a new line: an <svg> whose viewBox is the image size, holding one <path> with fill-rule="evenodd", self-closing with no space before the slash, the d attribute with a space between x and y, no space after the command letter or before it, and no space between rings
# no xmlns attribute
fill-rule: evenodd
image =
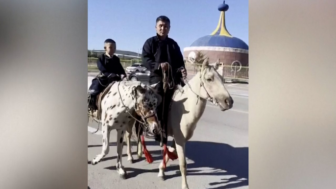
<svg viewBox="0 0 336 189"><path fill-rule="evenodd" d="M182 77L185 78L187 76L187 71L180 47L173 39L168 38L170 29L170 20L168 17L159 16L156 19L155 28L156 35L147 39L144 43L142 63L150 71L149 85L158 83L158 93L164 99L157 110L163 133L146 132L145 134L147 138L154 138L156 141L166 144L168 107L173 90L164 91L164 85L166 85L165 89L171 89L175 85L183 87L185 84ZM163 82L164 75L167 77L167 83Z"/></svg>

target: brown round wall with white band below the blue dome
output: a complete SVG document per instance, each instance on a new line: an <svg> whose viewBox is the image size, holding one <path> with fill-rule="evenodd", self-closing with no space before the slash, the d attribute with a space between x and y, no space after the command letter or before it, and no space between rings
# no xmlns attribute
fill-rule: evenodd
<svg viewBox="0 0 336 189"><path fill-rule="evenodd" d="M192 50L186 50L183 52L185 59L188 59L189 53ZM241 66L248 66L248 53L241 52L229 52L229 51L214 51L214 50L199 50L205 57L209 58L209 62L216 62L219 58L220 62L223 62L225 66L231 66L232 63L238 60ZM195 51L194 51L195 52ZM196 53L196 52L195 52Z"/></svg>

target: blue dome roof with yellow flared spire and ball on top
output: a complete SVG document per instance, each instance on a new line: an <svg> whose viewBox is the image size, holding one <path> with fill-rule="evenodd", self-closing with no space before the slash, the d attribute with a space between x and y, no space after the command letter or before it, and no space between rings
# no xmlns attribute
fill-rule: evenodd
<svg viewBox="0 0 336 189"><path fill-rule="evenodd" d="M203 36L192 43L191 47L227 47L248 50L248 45L237 37L233 37L225 26L225 11L229 9L229 5L225 4L225 0L218 6L220 17L216 29L212 34Z"/></svg>

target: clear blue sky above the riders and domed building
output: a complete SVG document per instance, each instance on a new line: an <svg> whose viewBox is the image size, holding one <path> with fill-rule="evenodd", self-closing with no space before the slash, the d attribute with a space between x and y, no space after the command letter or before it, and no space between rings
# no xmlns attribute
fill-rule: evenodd
<svg viewBox="0 0 336 189"><path fill-rule="evenodd" d="M183 51L217 26L223 0L88 0L88 49L103 49L112 38L117 49L138 52L156 34L155 20L170 19L169 37ZM226 28L248 45L248 0L225 0ZM141 51L140 51L141 53Z"/></svg>

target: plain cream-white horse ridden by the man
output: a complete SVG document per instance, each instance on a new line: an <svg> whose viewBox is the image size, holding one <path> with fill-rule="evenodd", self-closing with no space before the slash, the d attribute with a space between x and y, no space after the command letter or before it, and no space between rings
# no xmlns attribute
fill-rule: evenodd
<svg viewBox="0 0 336 189"><path fill-rule="evenodd" d="M168 113L168 136L173 137L173 144L169 148L170 152L176 154L179 160L180 171L182 173L182 189L189 189L186 180L186 157L185 143L192 138L198 120L202 117L207 100L218 105L221 111L228 110L233 106L233 99L226 90L223 78L216 71L219 60L209 65L209 60L205 59L202 69L198 72L183 89L176 90L172 98L171 110ZM130 126L130 125L129 125ZM132 160L130 152L130 136L132 129L126 131L127 155ZM142 156L142 144L139 142L138 157ZM176 151L175 151L176 150ZM166 155L167 164L169 157ZM164 179L164 162L159 165L158 177Z"/></svg>

